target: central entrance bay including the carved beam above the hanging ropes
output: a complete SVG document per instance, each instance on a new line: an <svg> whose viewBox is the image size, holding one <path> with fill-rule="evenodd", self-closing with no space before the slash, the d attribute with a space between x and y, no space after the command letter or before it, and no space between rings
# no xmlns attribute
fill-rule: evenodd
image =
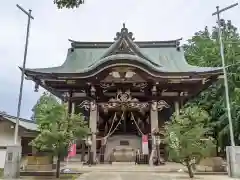
<svg viewBox="0 0 240 180"><path fill-rule="evenodd" d="M100 104L99 126L104 126L104 161L133 162L142 149L142 136L150 133L149 105L118 90L115 98ZM102 110L102 111L101 111ZM105 116L104 116L105 115ZM101 129L101 128L99 128Z"/></svg>

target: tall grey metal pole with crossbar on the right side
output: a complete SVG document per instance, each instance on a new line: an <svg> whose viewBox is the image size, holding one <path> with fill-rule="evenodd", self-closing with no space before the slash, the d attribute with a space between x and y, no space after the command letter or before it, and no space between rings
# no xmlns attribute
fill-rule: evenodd
<svg viewBox="0 0 240 180"><path fill-rule="evenodd" d="M232 115L231 115L231 107L230 107L230 100L229 100L229 89L228 89L228 79L227 79L227 71L225 66L225 57L224 57L224 45L222 41L222 30L221 30L221 19L220 14L226 10L229 10L235 6L237 6L238 3L232 4L230 6L227 6L223 9L219 9L219 6L217 6L217 11L214 12L212 15L217 15L217 24L218 24L218 36L219 36L219 44L220 44L220 54L222 59L222 68L223 68L223 76L224 76L224 86L225 86L225 96L226 96L226 106L227 106L227 114L228 114L228 123L229 123L229 131L230 131L230 141L231 146L235 146L234 141L234 132L233 132L233 125L232 125Z"/></svg>

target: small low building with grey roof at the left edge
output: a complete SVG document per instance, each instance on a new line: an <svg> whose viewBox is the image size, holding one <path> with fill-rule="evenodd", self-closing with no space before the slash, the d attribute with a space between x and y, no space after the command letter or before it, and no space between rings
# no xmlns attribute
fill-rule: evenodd
<svg viewBox="0 0 240 180"><path fill-rule="evenodd" d="M14 144L14 129L16 117L0 112L0 147L5 149L8 145ZM37 125L32 120L19 119L18 144L22 145L22 155L31 155L32 146L29 143L38 134Z"/></svg>

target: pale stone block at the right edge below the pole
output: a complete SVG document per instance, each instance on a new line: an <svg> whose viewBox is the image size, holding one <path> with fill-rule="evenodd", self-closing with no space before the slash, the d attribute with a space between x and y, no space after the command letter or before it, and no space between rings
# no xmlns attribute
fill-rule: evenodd
<svg viewBox="0 0 240 180"><path fill-rule="evenodd" d="M240 178L240 146L227 146L228 175L232 178Z"/></svg>

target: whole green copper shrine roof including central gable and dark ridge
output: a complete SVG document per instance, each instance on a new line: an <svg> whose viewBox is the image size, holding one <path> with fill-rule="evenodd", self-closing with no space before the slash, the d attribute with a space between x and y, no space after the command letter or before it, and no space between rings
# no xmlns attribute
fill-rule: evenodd
<svg viewBox="0 0 240 180"><path fill-rule="evenodd" d="M117 33L115 42L75 42L68 50L63 65L52 68L26 69L35 73L85 73L105 62L114 64L116 60L141 63L158 72L211 72L220 70L214 67L189 65L178 41L134 42L132 33L124 27Z"/></svg>

